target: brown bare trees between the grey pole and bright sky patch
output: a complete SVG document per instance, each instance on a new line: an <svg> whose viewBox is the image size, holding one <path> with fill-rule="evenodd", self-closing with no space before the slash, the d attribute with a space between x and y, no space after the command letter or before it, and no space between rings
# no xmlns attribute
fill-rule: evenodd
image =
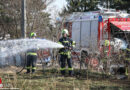
<svg viewBox="0 0 130 90"><path fill-rule="evenodd" d="M54 0L28 0L27 1L27 34L35 31L41 38L48 37L50 32L50 18L45 9Z"/></svg>

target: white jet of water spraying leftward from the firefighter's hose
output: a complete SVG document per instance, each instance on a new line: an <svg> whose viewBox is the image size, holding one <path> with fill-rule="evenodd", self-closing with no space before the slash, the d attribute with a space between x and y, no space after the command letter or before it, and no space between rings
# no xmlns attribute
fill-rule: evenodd
<svg viewBox="0 0 130 90"><path fill-rule="evenodd" d="M15 40L0 41L0 53L1 53L0 58L2 59L5 57L15 56L20 53L26 53L30 49L63 48L63 47L64 47L63 45L60 45L58 43L46 39L15 39ZM23 69L24 68L25 65Z"/></svg>

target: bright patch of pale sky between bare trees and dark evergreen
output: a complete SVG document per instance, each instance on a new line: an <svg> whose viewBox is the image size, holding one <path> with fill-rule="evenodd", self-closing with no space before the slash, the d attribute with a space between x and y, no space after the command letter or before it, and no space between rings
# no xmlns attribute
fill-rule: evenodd
<svg viewBox="0 0 130 90"><path fill-rule="evenodd" d="M62 11L63 7L66 6L66 4L66 0L55 0L48 6L46 11L51 14L50 18L52 18L52 23L54 23L56 18L59 17L58 13Z"/></svg>

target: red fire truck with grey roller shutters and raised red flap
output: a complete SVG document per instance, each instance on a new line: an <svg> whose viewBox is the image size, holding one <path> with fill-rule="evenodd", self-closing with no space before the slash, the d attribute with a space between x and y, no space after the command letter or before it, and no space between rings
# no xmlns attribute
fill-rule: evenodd
<svg viewBox="0 0 130 90"><path fill-rule="evenodd" d="M121 38L129 43L127 39L130 38L130 18L105 18L99 22L99 12L83 15L73 16L74 19L66 20L64 23L64 27L70 32L70 37L76 41L75 52L72 51L74 61L79 61L78 55L80 60L84 59L83 62L88 63L89 55L100 53L100 47L105 40L112 42L113 38ZM109 45L108 55L112 53L111 49ZM90 63L96 67L99 65L99 60L93 58Z"/></svg>

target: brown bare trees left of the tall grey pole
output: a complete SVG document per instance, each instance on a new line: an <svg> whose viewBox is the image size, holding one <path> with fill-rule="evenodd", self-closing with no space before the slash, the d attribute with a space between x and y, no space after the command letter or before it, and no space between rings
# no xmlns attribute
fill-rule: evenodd
<svg viewBox="0 0 130 90"><path fill-rule="evenodd" d="M1 0L0 37L4 38L6 34L10 34L11 38L20 37L20 4L18 0Z"/></svg>

